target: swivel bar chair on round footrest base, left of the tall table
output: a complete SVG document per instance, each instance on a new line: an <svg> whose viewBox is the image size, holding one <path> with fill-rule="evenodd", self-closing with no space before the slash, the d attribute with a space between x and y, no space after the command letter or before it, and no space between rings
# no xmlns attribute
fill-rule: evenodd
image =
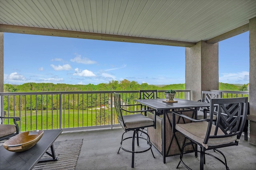
<svg viewBox="0 0 256 170"><path fill-rule="evenodd" d="M151 148L152 143L150 142L149 135L146 132L141 130L144 127L154 127L154 128L156 128L156 121L155 121L156 116L154 116L154 120L152 120L149 117L146 117L145 115L142 114L142 112L144 112L144 111L153 111L153 109L136 110L136 111L129 111L127 109L124 109L124 108L127 108L127 107L131 108L131 107L134 107L134 106L142 107L142 105L141 104L121 105L121 97L120 97L120 94L117 94L117 93L114 93L114 104L115 104L115 108L116 108L116 114L117 114L117 117L118 117L118 122L120 123L120 125L124 129L124 133L122 135L122 140L120 142L120 148L118 150L118 153L119 153L120 149L122 149L126 152L131 152L132 153L132 168L134 168L134 154L135 153L142 153L142 152L146 152L148 150L151 150L151 152L153 154L153 157L155 158L154 153L153 153L152 148ZM126 113L129 112L129 114L124 115L123 112L126 112ZM131 114L131 113L135 113L135 114ZM124 134L128 131L133 131L132 137L124 138ZM139 131L146 134L147 139L144 138L144 137L139 137L139 135L138 135ZM144 139L148 142L149 147L146 148L145 150L136 151L135 150L135 142L134 142L135 137L137 139L137 146L139 146L139 139ZM132 138L132 150L125 149L122 146L123 141L126 140L126 139L130 139L130 138Z"/></svg>

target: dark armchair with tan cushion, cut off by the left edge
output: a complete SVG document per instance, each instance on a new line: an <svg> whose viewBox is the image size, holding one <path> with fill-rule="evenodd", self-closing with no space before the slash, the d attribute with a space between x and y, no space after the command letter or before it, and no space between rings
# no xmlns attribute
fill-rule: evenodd
<svg viewBox="0 0 256 170"><path fill-rule="evenodd" d="M2 117L2 116L0 116L0 118L1 119L13 119L13 123L14 123L14 125L0 124L0 141L2 141L4 139L9 139L10 137L18 135L20 133L19 125L16 122L16 121L20 121L20 117Z"/></svg>

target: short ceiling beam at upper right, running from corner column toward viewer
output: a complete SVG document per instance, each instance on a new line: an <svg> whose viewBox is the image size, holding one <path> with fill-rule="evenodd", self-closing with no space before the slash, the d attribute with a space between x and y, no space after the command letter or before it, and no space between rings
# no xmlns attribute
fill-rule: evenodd
<svg viewBox="0 0 256 170"><path fill-rule="evenodd" d="M223 41L224 39L228 39L228 38L231 38L231 37L234 37L236 35L239 35L241 33L244 33L246 31L249 31L249 23L245 24L245 25L242 25L241 27L238 27L236 29L233 29L231 31L228 31L224 34L221 34L217 37L214 37L212 39L208 39L206 41L206 43L210 43L210 44L214 44L214 43L218 43L219 41Z"/></svg>

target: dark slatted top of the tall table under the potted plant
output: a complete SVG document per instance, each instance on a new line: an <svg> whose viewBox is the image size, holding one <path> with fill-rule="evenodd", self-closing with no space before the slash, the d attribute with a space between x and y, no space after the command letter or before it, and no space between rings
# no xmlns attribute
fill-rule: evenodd
<svg viewBox="0 0 256 170"><path fill-rule="evenodd" d="M137 99L136 102L149 106L153 109L164 110L164 109L180 109L180 108L191 108L191 107L207 107L210 106L209 103L204 102L196 102L192 100L184 100L174 98L174 100L178 101L177 103L166 103L163 102L165 99Z"/></svg>

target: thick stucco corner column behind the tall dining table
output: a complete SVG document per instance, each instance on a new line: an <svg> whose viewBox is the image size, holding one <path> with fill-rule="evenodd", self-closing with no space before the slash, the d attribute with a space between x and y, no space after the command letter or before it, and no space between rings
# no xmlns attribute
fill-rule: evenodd
<svg viewBox="0 0 256 170"><path fill-rule="evenodd" d="M191 90L191 100L201 99L202 90L219 90L219 46L199 41L186 47L186 89Z"/></svg>

